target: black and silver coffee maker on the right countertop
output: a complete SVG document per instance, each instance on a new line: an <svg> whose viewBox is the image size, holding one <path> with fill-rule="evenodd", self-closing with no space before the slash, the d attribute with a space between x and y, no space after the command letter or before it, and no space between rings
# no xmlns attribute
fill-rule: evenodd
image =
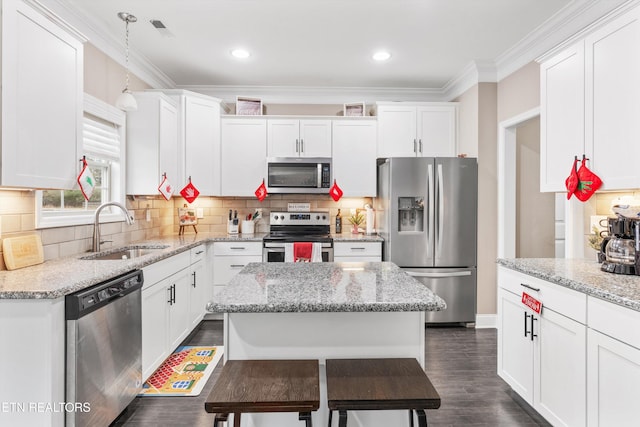
<svg viewBox="0 0 640 427"><path fill-rule="evenodd" d="M606 258L600 269L616 274L640 275L640 219L621 215L608 218L609 237L602 242Z"/></svg>

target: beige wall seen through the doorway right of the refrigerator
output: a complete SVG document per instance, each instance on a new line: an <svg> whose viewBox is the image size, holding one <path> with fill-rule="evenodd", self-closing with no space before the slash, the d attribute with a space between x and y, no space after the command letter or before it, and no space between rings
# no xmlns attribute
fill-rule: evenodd
<svg viewBox="0 0 640 427"><path fill-rule="evenodd" d="M516 129L516 256L555 257L555 194L540 192L540 117Z"/></svg>

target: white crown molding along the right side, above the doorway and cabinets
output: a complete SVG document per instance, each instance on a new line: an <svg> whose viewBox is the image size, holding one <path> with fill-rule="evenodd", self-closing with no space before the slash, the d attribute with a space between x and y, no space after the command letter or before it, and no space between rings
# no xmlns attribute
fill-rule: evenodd
<svg viewBox="0 0 640 427"><path fill-rule="evenodd" d="M637 0L574 0L547 19L496 60L497 81L552 50L613 9Z"/></svg>

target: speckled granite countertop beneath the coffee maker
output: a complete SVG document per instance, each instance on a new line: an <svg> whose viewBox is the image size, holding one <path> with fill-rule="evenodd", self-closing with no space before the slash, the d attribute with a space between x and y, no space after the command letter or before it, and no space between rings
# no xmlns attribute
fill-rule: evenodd
<svg viewBox="0 0 640 427"><path fill-rule="evenodd" d="M607 273L583 259L515 258L498 264L530 276L640 311L640 276Z"/></svg>

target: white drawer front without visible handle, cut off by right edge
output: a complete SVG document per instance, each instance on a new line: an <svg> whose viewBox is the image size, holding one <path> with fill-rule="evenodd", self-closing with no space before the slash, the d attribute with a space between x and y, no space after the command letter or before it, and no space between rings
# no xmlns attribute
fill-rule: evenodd
<svg viewBox="0 0 640 427"><path fill-rule="evenodd" d="M589 328L640 349L640 311L588 297Z"/></svg>

